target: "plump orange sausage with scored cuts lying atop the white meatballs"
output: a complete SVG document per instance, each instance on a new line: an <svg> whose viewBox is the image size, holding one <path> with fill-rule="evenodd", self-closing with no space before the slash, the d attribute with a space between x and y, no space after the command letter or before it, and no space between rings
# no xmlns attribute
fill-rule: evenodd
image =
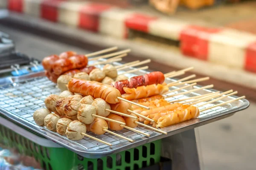
<svg viewBox="0 0 256 170"><path fill-rule="evenodd" d="M73 78L70 80L70 82L68 82L68 89L74 93L79 93L85 96L91 95L94 98L101 98L108 103L120 102L120 100L117 98L121 97L120 92L111 85L103 85L99 82ZM95 93L96 91L99 93Z"/></svg>

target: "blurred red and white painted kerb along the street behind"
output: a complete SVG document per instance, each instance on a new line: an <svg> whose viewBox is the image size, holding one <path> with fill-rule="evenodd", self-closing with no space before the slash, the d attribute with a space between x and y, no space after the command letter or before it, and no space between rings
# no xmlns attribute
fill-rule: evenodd
<svg viewBox="0 0 256 170"><path fill-rule="evenodd" d="M207 28L108 4L65 0L1 0L0 7L118 38L129 29L180 42L182 54L256 72L256 35L229 28Z"/></svg>

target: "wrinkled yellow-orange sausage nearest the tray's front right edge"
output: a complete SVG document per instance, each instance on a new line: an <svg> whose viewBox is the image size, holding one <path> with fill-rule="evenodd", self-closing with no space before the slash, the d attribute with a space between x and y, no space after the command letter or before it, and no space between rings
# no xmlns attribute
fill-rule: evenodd
<svg viewBox="0 0 256 170"><path fill-rule="evenodd" d="M158 119L156 127L167 127L189 119L195 119L199 116L199 110L195 106L188 107L184 110L178 110Z"/></svg>

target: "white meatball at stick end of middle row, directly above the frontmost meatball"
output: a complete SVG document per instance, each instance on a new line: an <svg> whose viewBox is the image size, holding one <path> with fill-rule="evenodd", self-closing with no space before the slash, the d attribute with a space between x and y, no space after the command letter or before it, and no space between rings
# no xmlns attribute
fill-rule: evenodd
<svg viewBox="0 0 256 170"><path fill-rule="evenodd" d="M82 104L77 112L77 119L84 124L91 124L95 119L96 108L93 105Z"/></svg>

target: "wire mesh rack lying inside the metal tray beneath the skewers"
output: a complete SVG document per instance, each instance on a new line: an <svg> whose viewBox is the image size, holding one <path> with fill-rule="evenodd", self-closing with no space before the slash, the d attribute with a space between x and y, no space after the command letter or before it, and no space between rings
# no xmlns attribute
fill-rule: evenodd
<svg viewBox="0 0 256 170"><path fill-rule="evenodd" d="M134 74L131 74L130 77L134 76ZM166 82L171 82L173 79L169 79ZM9 83L6 85L0 86L0 108L5 109L6 111L9 111L16 116L18 116L20 119L25 119L27 122L37 126L33 120L33 113L35 110L39 108L44 108L44 99L49 96L49 94L59 94L60 91L58 88L55 87L56 85L49 81L46 77L36 77L31 79L26 79L25 81L21 82L14 82ZM171 87L172 89L178 88L178 87ZM191 88L190 88L191 89ZM181 91L187 91L190 89L182 89ZM180 92L180 91L179 91ZM201 93L199 93L201 92ZM212 92L210 90L201 90L198 93L190 93L187 95L177 95L171 98L168 98L169 101L177 100L177 99L185 99L191 96L197 96L205 93ZM177 94L178 92L170 93ZM200 107L199 109L207 108L212 105L216 105L223 101L214 102L212 104L205 105L204 107ZM197 105L201 105L202 103L198 103ZM200 113L199 118L207 117L210 115L221 113L222 111L226 111L228 108L232 107L231 105L227 104L223 107L216 107L209 109L207 111L204 111ZM44 130L49 131L45 127L41 127ZM138 126L135 129L140 130L142 132L145 132L147 134L152 134L153 130L148 129L146 127ZM127 129L122 129L120 131L115 131L115 133L120 134L122 136L128 137L130 139L140 139L142 137L145 137L144 135L140 133L135 133ZM154 131L154 133L156 133ZM56 133L57 134L57 133ZM103 135L95 135L94 133L89 133L92 136L97 137L98 139L105 140L106 142L110 142L113 145L122 144L127 142L127 140L122 139L118 136L114 136L109 133L105 133ZM60 136L58 134L58 136ZM63 137L63 136L61 136ZM69 140L69 139L67 139ZM84 137L84 139L81 139L79 141L76 141L77 144L80 146L89 149L89 150L100 150L103 148L109 147L106 144L102 144L100 142L97 142L93 139Z"/></svg>

